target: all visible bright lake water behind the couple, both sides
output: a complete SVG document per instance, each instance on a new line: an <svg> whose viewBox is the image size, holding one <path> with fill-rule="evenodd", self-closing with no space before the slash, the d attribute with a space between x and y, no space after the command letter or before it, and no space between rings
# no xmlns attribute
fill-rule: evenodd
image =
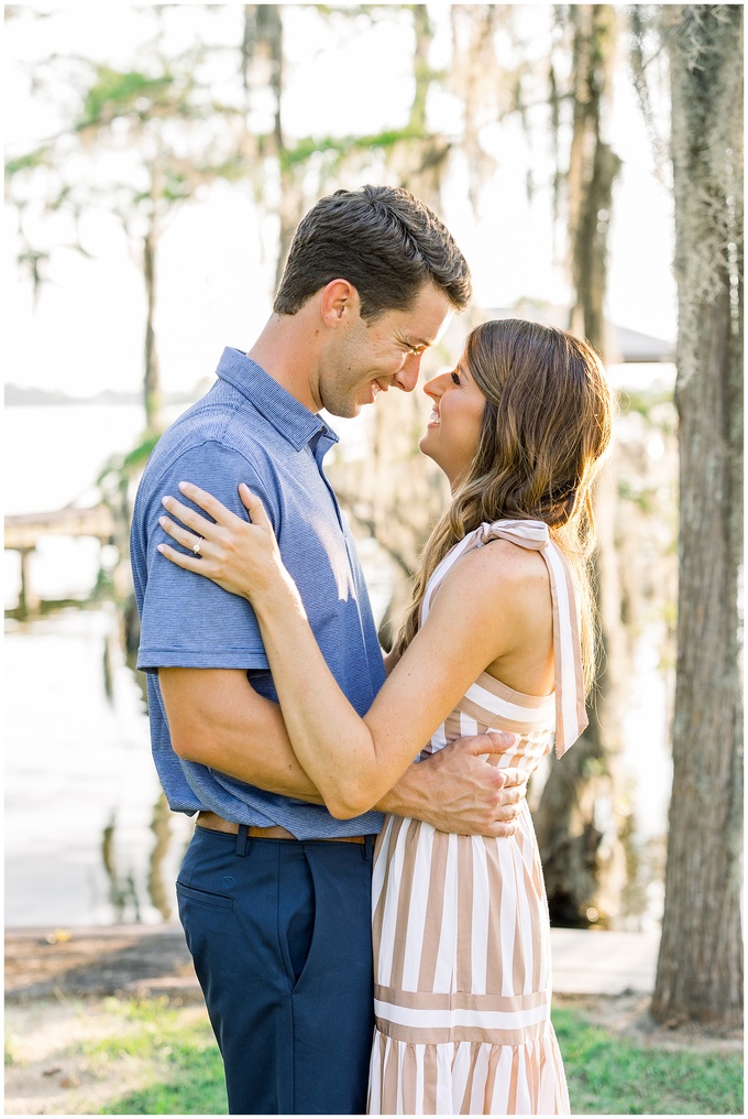
<svg viewBox="0 0 748 1119"><path fill-rule="evenodd" d="M8 408L6 511L55 509L84 495L141 426L138 407ZM4 562L6 606L13 606L18 556L6 553ZM32 557L31 577L42 596L85 598L97 566L95 542L49 538ZM381 573L369 566L367 575L375 609L382 609ZM6 631L6 923L173 920L173 881L192 825L164 806L142 693L124 664L113 610L8 621ZM665 827L665 712L655 642L645 634L624 734L642 839ZM656 920L661 884L653 881L650 892L647 920Z"/></svg>

